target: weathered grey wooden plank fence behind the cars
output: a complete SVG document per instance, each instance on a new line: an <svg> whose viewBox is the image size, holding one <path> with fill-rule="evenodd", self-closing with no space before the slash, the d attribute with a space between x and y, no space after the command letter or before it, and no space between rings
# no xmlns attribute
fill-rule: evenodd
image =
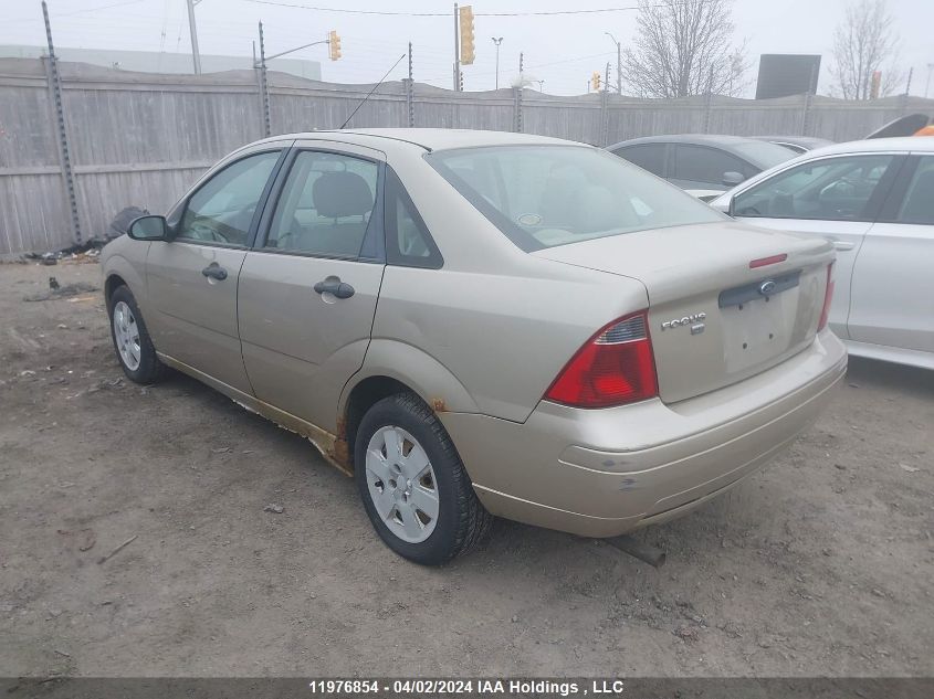
<svg viewBox="0 0 934 699"><path fill-rule="evenodd" d="M66 247L76 242L75 231L85 240L103 235L116 212L130 204L165 211L212 162L265 131L255 71L189 76L81 63L56 67L63 131L43 62L0 60L0 256ZM266 77L272 134L337 128L371 87L273 72ZM405 127L411 120L419 127L522 130L600 146L705 130L840 141L915 110L934 112L934 100L560 97L515 88L453 92L400 81L380 86L348 128Z"/></svg>

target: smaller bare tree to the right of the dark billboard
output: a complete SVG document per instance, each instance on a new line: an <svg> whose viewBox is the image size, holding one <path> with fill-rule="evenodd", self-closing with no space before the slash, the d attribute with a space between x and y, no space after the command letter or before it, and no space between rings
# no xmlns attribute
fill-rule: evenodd
<svg viewBox="0 0 934 699"><path fill-rule="evenodd" d="M843 99L869 99L872 74L881 72L879 96L891 95L901 83L895 70L899 38L885 0L853 0L833 32L833 85L830 94Z"/></svg>

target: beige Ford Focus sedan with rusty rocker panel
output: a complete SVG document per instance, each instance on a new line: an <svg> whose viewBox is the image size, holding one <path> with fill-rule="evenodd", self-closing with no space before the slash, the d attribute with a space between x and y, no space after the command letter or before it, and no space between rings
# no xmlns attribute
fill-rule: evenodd
<svg viewBox="0 0 934 699"><path fill-rule="evenodd" d="M432 564L492 516L611 537L755 472L843 375L832 257L598 148L435 129L259 141L102 254L127 377L307 436Z"/></svg>

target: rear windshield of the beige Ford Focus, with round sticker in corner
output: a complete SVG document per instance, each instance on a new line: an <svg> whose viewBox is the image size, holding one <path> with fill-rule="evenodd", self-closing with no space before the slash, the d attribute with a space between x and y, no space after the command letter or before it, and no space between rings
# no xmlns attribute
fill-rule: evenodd
<svg viewBox="0 0 934 699"><path fill-rule="evenodd" d="M621 158L586 146L507 146L426 159L526 252L726 216Z"/></svg>

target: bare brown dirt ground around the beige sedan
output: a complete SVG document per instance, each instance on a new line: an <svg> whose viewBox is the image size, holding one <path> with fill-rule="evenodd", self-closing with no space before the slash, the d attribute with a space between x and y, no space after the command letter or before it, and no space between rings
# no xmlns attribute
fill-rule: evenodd
<svg viewBox="0 0 934 699"><path fill-rule="evenodd" d="M508 522L424 569L307 442L125 380L99 293L24 301L50 275L101 286L0 265L0 676L934 674L934 372L852 360L777 462L638 534L658 571Z"/></svg>

